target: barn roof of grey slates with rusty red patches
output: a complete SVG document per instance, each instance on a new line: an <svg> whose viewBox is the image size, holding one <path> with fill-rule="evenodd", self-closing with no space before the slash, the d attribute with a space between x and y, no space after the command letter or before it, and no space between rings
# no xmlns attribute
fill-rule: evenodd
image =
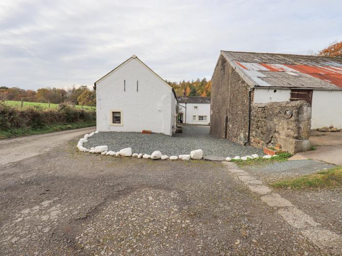
<svg viewBox="0 0 342 256"><path fill-rule="evenodd" d="M221 51L251 87L342 89L342 58Z"/></svg>

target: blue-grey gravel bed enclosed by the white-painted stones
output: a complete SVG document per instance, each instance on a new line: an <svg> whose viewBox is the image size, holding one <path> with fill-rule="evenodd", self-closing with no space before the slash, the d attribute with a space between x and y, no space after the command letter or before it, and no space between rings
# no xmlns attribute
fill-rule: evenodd
<svg viewBox="0 0 342 256"><path fill-rule="evenodd" d="M164 134L100 132L88 140L89 142L84 144L87 148L107 145L109 150L119 151L131 147L133 153L138 154L151 154L159 150L165 155L178 156L190 154L195 149L202 149L204 156L242 157L252 154L263 156L260 149L212 137L208 126L184 125L183 133L174 134L172 137Z"/></svg>

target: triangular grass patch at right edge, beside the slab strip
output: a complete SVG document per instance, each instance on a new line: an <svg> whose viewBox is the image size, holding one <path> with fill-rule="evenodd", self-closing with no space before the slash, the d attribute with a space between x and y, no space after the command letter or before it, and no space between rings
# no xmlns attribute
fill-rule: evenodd
<svg viewBox="0 0 342 256"><path fill-rule="evenodd" d="M342 166L317 172L315 174L303 175L298 178L277 181L271 185L276 188L290 187L295 189L341 186Z"/></svg>

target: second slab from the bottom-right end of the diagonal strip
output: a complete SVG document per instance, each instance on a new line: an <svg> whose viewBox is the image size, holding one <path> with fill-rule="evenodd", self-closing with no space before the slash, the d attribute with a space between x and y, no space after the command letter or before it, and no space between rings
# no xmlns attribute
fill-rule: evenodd
<svg viewBox="0 0 342 256"><path fill-rule="evenodd" d="M291 226L299 229L312 228L321 225L296 207L278 210L278 214Z"/></svg>

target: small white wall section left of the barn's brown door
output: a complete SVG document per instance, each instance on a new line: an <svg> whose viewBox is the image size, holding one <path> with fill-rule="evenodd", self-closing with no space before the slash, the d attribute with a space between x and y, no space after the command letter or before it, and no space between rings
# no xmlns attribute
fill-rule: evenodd
<svg viewBox="0 0 342 256"><path fill-rule="evenodd" d="M275 92L276 91L276 92ZM282 88L255 88L254 103L267 103L290 100L291 90Z"/></svg>

